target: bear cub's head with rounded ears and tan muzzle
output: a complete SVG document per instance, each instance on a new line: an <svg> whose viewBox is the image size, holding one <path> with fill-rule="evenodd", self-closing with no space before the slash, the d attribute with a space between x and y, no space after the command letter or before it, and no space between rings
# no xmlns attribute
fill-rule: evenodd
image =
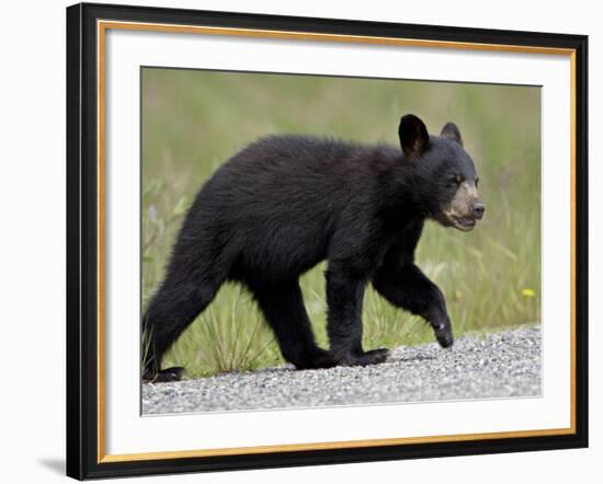
<svg viewBox="0 0 603 484"><path fill-rule="evenodd" d="M430 136L421 119L407 114L398 135L414 203L444 227L471 230L486 207L477 191L474 162L463 148L456 125L447 123L440 136Z"/></svg>

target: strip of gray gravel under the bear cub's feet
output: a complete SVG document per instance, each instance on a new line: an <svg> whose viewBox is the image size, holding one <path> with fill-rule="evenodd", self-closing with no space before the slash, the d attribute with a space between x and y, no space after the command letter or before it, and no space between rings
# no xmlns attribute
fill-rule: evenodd
<svg viewBox="0 0 603 484"><path fill-rule="evenodd" d="M291 366L143 385L143 414L216 412L535 396L541 329L400 346L369 367L296 371Z"/></svg>

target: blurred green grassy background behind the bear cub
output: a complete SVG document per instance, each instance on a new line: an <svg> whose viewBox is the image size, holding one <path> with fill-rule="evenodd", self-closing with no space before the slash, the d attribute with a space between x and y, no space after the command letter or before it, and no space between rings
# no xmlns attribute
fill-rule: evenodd
<svg viewBox="0 0 603 484"><path fill-rule="evenodd" d="M473 232L430 222L419 244L418 264L444 291L455 335L539 321L539 88L145 68L141 102L145 308L196 192L247 143L295 132L399 146L400 116L413 113L431 134L458 125L488 207ZM323 269L304 275L302 287L327 347ZM365 348L434 341L421 319L372 288L363 318ZM227 285L163 366L200 377L282 361L251 298Z"/></svg>

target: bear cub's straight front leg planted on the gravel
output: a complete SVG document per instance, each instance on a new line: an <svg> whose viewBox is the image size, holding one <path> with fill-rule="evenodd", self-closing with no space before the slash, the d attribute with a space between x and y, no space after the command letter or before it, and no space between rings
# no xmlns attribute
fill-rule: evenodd
<svg viewBox="0 0 603 484"><path fill-rule="evenodd" d="M326 273L328 320L327 332L335 364L366 366L385 361L385 348L362 348L362 301L366 278L344 263L331 263Z"/></svg>

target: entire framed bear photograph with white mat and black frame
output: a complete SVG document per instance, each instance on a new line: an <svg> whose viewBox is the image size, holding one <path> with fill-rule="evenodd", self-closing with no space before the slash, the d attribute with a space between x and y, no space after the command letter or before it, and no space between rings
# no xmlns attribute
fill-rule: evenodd
<svg viewBox="0 0 603 484"><path fill-rule="evenodd" d="M588 446L588 38L67 9L67 474Z"/></svg>

